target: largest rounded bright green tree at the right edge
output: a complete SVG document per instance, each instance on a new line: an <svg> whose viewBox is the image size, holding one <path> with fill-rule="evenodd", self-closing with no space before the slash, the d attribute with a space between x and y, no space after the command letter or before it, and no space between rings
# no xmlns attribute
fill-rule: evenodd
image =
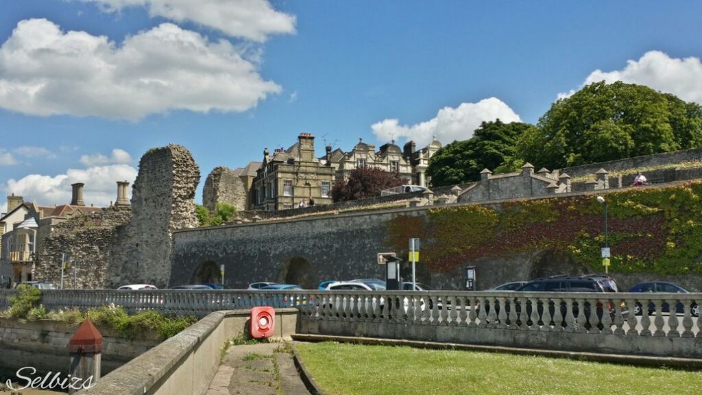
<svg viewBox="0 0 702 395"><path fill-rule="evenodd" d="M562 98L517 141L517 157L557 169L702 146L702 108L647 86L597 82Z"/></svg>

